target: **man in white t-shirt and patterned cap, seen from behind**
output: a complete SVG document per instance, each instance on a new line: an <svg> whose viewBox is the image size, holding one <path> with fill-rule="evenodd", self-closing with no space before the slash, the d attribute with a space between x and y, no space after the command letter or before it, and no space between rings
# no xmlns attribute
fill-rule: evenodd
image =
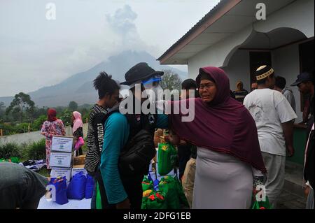
<svg viewBox="0 0 315 223"><path fill-rule="evenodd" d="M273 90L275 78L271 66L260 66L255 76L258 89L245 97L244 106L256 123L260 150L267 168L266 194L276 208L284 184L286 154L289 157L294 154L293 120L297 116L283 94Z"/></svg>

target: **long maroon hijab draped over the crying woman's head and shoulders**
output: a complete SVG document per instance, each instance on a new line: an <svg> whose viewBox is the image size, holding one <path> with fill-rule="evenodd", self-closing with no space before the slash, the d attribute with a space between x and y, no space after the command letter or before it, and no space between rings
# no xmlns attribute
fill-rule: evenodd
<svg viewBox="0 0 315 223"><path fill-rule="evenodd" d="M241 161L266 173L260 152L258 134L253 117L238 101L230 97L230 80L222 69L204 67L197 76L200 85L201 73L207 73L216 82L217 92L211 103L202 99L195 101L195 119L182 122L182 115L169 115L175 133L185 141L209 150L231 154ZM173 106L188 100L174 101Z"/></svg>

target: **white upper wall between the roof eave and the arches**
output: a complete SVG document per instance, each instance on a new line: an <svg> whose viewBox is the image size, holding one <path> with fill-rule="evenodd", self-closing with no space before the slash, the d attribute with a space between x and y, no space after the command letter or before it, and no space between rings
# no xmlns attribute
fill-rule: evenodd
<svg viewBox="0 0 315 223"><path fill-rule="evenodd" d="M309 22L306 22L309 21ZM267 20L255 22L255 31L267 33L273 29L287 27L300 30L308 38L314 36L314 0L298 0L272 13ZM188 76L195 78L200 67L227 66L228 57L251 36L250 25L228 38L211 45L188 59Z"/></svg>

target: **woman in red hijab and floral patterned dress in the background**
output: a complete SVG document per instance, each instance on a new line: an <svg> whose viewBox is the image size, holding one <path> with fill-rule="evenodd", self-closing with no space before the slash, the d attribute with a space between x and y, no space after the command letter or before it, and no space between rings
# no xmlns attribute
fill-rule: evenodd
<svg viewBox="0 0 315 223"><path fill-rule="evenodd" d="M50 169L49 160L51 152L52 136L65 136L64 123L62 120L57 119L57 112L55 109L50 108L47 112L48 119L41 127L41 134L46 138L46 165Z"/></svg>

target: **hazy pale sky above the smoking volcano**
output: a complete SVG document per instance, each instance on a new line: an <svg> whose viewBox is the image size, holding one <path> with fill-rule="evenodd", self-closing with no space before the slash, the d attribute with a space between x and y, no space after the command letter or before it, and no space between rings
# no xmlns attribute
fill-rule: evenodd
<svg viewBox="0 0 315 223"><path fill-rule="evenodd" d="M123 50L158 58L218 2L0 1L0 96L55 85ZM47 3L56 20L46 19Z"/></svg>

